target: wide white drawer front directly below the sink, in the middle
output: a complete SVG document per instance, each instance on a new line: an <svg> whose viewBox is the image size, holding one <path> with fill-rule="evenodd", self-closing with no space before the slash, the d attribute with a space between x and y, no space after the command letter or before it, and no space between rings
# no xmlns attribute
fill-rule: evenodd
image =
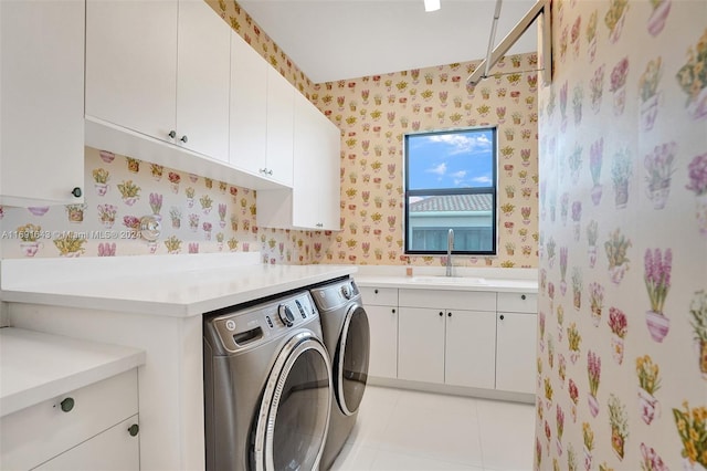
<svg viewBox="0 0 707 471"><path fill-rule="evenodd" d="M496 293L483 291L400 290L401 306L496 311Z"/></svg>

